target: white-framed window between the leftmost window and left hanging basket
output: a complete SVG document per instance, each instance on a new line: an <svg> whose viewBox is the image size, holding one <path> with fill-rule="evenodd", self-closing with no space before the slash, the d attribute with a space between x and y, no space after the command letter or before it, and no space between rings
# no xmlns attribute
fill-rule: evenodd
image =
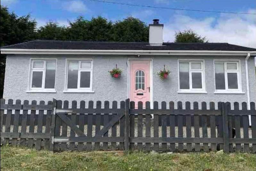
<svg viewBox="0 0 256 171"><path fill-rule="evenodd" d="M67 60L64 92L92 92L92 60Z"/></svg>

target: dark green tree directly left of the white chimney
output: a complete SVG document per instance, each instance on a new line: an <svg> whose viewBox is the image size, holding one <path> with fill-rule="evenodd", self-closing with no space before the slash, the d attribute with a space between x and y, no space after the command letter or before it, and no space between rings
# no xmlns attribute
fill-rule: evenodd
<svg viewBox="0 0 256 171"><path fill-rule="evenodd" d="M148 41L149 28L134 17L117 21L113 26L114 41Z"/></svg>

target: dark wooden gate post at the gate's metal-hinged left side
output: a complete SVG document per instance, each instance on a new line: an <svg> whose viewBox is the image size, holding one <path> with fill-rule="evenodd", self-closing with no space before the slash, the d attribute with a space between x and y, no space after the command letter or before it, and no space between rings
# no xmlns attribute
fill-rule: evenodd
<svg viewBox="0 0 256 171"><path fill-rule="evenodd" d="M53 99L52 118L51 118L51 129L50 129L50 143L49 150L54 152L54 136L55 136L55 120L56 120L56 106L57 100Z"/></svg>

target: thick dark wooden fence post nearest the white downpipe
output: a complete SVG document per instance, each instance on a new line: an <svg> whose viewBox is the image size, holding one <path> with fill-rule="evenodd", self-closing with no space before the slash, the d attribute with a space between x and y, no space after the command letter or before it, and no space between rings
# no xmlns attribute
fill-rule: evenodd
<svg viewBox="0 0 256 171"><path fill-rule="evenodd" d="M221 114L222 114L222 123L223 123L223 151L229 153L229 135L228 135L228 105L229 103L222 102Z"/></svg>

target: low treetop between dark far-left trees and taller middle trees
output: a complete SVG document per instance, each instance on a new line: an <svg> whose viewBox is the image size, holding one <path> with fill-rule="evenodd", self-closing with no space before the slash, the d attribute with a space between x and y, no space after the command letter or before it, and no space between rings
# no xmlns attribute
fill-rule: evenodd
<svg viewBox="0 0 256 171"><path fill-rule="evenodd" d="M39 27L37 30L37 39L44 40L67 40L67 32L65 26L59 26L58 23L49 21L45 26Z"/></svg>

